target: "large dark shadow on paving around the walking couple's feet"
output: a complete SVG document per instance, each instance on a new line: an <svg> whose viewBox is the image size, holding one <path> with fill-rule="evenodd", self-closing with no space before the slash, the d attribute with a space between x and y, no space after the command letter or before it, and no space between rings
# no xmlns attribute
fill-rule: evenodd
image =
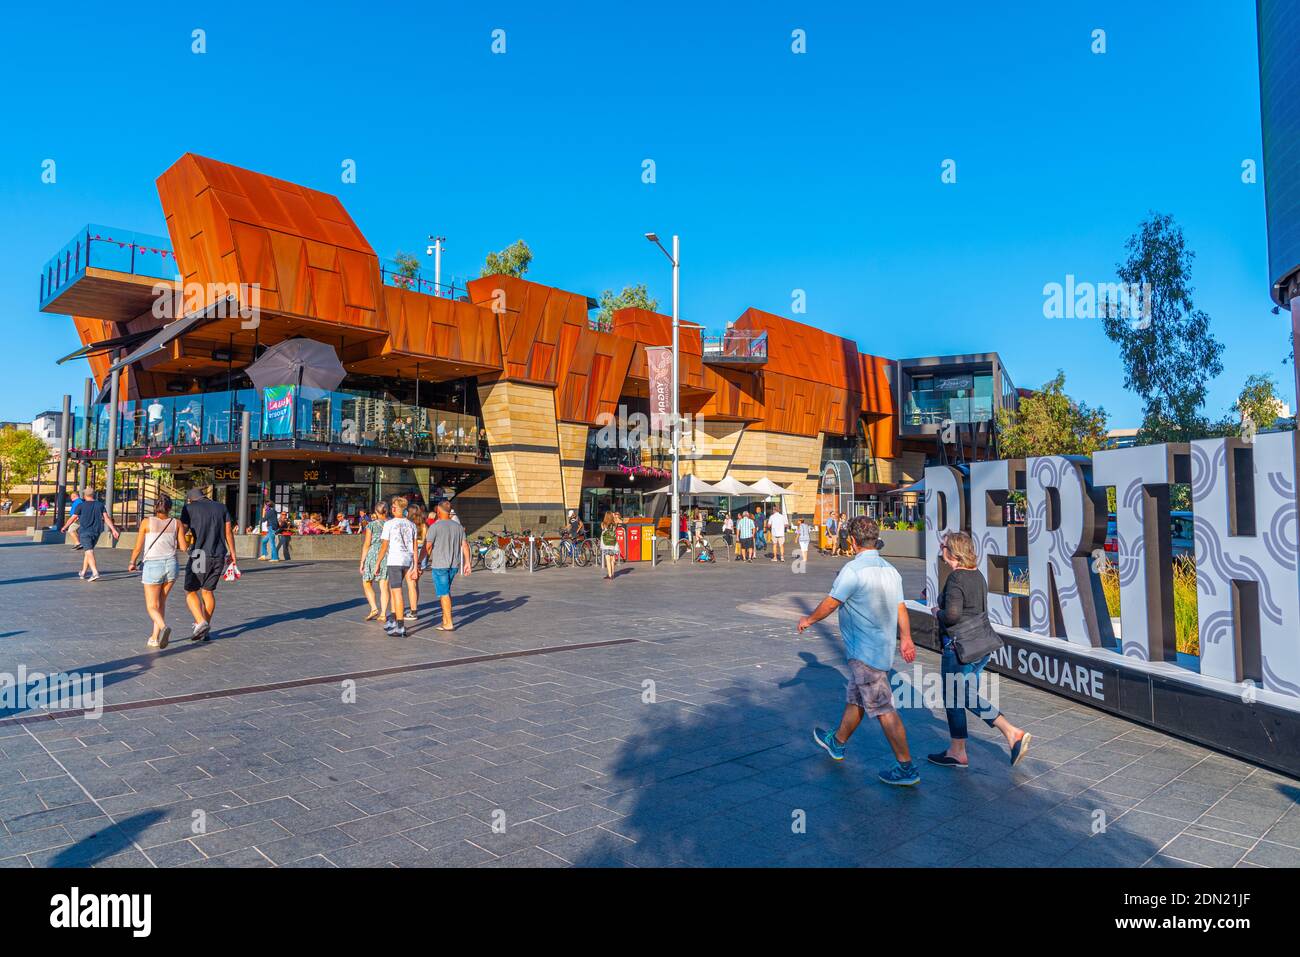
<svg viewBox="0 0 1300 957"><path fill-rule="evenodd" d="M684 654L677 646L675 653ZM640 681L629 688L624 713L634 718L633 729L590 748L590 766L606 775L593 784L612 792L593 802L615 817L589 832L569 859L578 866L1136 866L1164 844L1119 824L1093 839L1095 802L1102 798L1024 787L1049 765L1026 770L1027 759L1010 768L992 741L971 742L978 771L924 763L926 750L946 739L941 711L900 710L920 762L915 788L878 780L893 754L871 719L850 740L846 759L832 761L811 732L814 724L836 726L846 676L811 651L800 658L800 667L745 671L729 687L710 681L702 689L686 679L676 697L673 681L659 676L653 705L644 703Z"/></svg>

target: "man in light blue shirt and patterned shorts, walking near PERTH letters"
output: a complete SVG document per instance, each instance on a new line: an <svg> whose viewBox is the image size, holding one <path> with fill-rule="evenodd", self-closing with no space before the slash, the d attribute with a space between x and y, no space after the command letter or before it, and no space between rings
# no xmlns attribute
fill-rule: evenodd
<svg viewBox="0 0 1300 957"><path fill-rule="evenodd" d="M862 716L875 718L897 758L893 767L880 772L880 780L911 787L920 781L920 774L911 763L907 732L894 710L893 689L889 687L894 641L898 640L905 662L910 664L916 659L907 606L904 605L902 576L880 558L876 549L880 529L874 519L859 515L846 523L845 531L853 560L840 570L831 594L811 615L800 619L800 631L803 632L832 611L840 611L840 636L852 675L845 687L840 727L835 731L814 728L812 740L832 758L844 761L845 745L862 723Z"/></svg>

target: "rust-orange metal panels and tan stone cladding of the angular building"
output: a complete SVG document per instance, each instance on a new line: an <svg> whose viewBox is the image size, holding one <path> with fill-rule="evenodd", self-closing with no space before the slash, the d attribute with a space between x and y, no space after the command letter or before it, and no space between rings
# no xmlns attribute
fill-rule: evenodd
<svg viewBox="0 0 1300 957"><path fill-rule="evenodd" d="M585 295L521 278L474 280L463 298L386 285L378 256L343 204L283 179L186 153L159 177L157 189L181 273L174 285L186 291L187 311L256 290L259 321L250 328L229 317L196 328L133 365L124 397L177 393L177 382L202 381L231 363L242 368L259 346L291 335L330 342L350 373L471 380L482 402L493 471L508 475L514 489L504 494L504 482L495 480L477 486L484 523L508 520L511 510L547 515L575 507L588 429L616 413L620 402L647 394L645 350L671 341L667 316L620 309L612 326L599 330ZM138 295L139 281L130 280ZM150 309L124 321L126 300L108 299L112 308L94 309L98 315L74 313L87 346L169 321ZM65 311L60 296L46 309ZM696 436L707 450L701 475L744 480L770 471L810 512L823 437L866 432L875 456L896 454L889 360L759 309L746 309L729 328L766 334L763 360L751 367L711 361L698 329L681 334L682 410L708 424ZM103 381L108 358L90 361ZM512 410L526 410L517 412L526 421L511 423ZM545 460L525 463L520 455ZM547 475L538 478L540 472Z"/></svg>

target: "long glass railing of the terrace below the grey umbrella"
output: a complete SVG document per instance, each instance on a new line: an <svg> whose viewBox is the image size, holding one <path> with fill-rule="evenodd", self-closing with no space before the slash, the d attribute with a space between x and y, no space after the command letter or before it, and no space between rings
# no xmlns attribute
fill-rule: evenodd
<svg viewBox="0 0 1300 957"><path fill-rule="evenodd" d="M242 413L250 412L250 442L261 447L318 443L484 462L482 421L472 415L318 389L239 389L168 395L118 403L117 447L140 458L237 446ZM87 432L88 426L88 432ZM108 447L109 407L87 421L78 410L79 447Z"/></svg>

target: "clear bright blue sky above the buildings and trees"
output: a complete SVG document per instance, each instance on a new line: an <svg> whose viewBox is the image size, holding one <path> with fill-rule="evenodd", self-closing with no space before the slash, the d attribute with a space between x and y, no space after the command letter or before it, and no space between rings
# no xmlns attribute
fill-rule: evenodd
<svg viewBox="0 0 1300 957"><path fill-rule="evenodd" d="M1044 319L1043 286L1113 281L1158 209L1226 345L1206 411L1252 372L1295 404L1264 187L1240 178L1260 159L1252 0L150 7L5 13L3 419L75 402L86 376L53 364L79 341L36 309L44 260L86 222L162 233L153 182L186 151L334 192L381 256L441 233L445 274L477 274L523 237L530 278L644 281L664 311L641 237L676 231L685 319L789 315L802 289L798 317L863 351L996 350L1022 386L1063 368L1113 426L1140 419L1117 350L1096 320Z"/></svg>

